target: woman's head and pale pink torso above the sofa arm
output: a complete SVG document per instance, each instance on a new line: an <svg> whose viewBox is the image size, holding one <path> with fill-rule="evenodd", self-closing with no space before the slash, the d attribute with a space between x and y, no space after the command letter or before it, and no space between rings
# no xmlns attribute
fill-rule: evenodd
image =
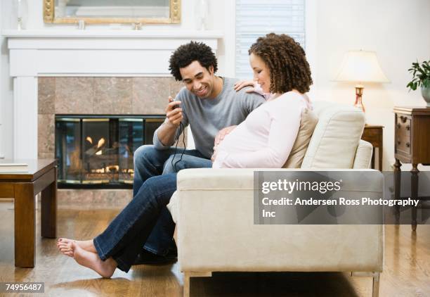
<svg viewBox="0 0 430 297"><path fill-rule="evenodd" d="M267 103L215 146L213 168L281 168L297 137L301 110L311 108L305 95L311 70L294 39L273 33L260 37L249 49L249 63Z"/></svg>

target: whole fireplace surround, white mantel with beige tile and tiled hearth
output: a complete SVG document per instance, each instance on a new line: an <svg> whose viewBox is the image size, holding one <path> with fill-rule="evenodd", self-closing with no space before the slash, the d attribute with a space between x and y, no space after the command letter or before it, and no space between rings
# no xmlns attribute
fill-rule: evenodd
<svg viewBox="0 0 430 297"><path fill-rule="evenodd" d="M13 77L14 157L53 157L55 114L162 114L181 84L169 56L221 32L6 30ZM130 190L60 190L59 206L122 207Z"/></svg>

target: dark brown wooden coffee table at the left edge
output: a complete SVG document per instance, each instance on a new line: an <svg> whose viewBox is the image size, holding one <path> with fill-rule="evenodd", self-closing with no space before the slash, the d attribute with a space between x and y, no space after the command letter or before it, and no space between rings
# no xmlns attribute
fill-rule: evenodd
<svg viewBox="0 0 430 297"><path fill-rule="evenodd" d="M56 160L5 160L27 163L28 172L0 172L0 198L15 201L15 266L34 267L36 237L34 196L41 192L41 236L56 238Z"/></svg>

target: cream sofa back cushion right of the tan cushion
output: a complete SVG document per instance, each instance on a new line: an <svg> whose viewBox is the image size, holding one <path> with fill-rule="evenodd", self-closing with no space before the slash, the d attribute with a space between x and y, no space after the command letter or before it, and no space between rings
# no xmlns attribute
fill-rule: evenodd
<svg viewBox="0 0 430 297"><path fill-rule="evenodd" d="M301 168L353 168L365 115L353 106L313 103L318 124L313 131Z"/></svg>

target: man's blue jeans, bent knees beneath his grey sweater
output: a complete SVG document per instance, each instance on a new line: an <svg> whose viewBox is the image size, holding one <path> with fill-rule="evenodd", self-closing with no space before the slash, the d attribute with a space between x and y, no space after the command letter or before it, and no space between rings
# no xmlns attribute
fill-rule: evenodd
<svg viewBox="0 0 430 297"><path fill-rule="evenodd" d="M184 151L181 160L181 153ZM211 168L211 160L205 158L197 150L184 150L183 148L168 148L157 150L152 145L141 146L134 153L134 182L133 196L136 196L143 183L150 177L167 175L185 168ZM172 165L173 160L173 165ZM176 187L176 184L175 184ZM147 241L145 250L157 255L166 255L171 245L175 224L171 219L169 210L162 208L159 218Z"/></svg>

